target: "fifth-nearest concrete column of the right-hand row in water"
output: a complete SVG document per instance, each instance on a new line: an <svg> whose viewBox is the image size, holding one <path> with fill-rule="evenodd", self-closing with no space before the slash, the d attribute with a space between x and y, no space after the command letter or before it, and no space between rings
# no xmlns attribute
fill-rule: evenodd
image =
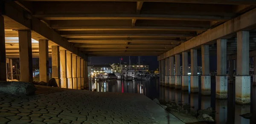
<svg viewBox="0 0 256 124"><path fill-rule="evenodd" d="M181 90L189 90L189 76L188 76L188 53L182 52L182 76L181 76Z"/></svg>

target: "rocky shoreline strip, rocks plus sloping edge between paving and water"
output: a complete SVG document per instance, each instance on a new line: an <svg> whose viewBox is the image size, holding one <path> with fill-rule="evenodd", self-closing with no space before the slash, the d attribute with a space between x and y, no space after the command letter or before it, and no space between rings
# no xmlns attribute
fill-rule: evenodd
<svg viewBox="0 0 256 124"><path fill-rule="evenodd" d="M197 122L207 122L214 124L214 119L212 118L212 114L214 111L211 107L208 107L204 110L192 110L190 104L177 104L175 101L164 101L154 99L157 104L167 110L169 113L172 113L174 116L179 118L184 123L195 123ZM199 123L201 124L201 123Z"/></svg>

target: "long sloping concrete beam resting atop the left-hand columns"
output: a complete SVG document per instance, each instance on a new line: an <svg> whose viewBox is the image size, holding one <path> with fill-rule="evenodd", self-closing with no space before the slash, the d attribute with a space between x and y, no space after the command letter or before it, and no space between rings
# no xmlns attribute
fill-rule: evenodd
<svg viewBox="0 0 256 124"><path fill-rule="evenodd" d="M44 39L49 39L55 44L65 48L66 50L76 54L84 59L86 59L85 54L78 51L78 48L74 47L72 43L68 42L67 39L61 37L52 28L49 28L45 23L41 22L38 18L33 17L24 8L19 6L12 0L6 0L3 5L3 13L1 13L5 18L6 25L12 25L15 22L17 27L20 26L20 30L31 30L32 33L41 35ZM12 20L12 22L6 21ZM13 28L15 29L15 28ZM32 34L33 35L33 34Z"/></svg>

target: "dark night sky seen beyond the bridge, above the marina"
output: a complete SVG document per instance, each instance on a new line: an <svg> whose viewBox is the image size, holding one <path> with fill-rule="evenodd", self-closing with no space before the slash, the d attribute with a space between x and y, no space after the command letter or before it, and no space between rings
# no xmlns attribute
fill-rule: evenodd
<svg viewBox="0 0 256 124"><path fill-rule="evenodd" d="M122 62L127 62L129 64L129 56L102 56L102 57L91 57L92 65L102 65L102 64L113 64L119 63L122 57ZM138 62L138 56L130 56L131 64ZM33 65L36 63L36 59L33 58ZM217 56L210 56L210 71L217 69ZM188 56L188 62L191 63L190 56ZM157 56L140 56L140 63L143 65L149 65L149 70L156 70L159 65L157 61ZM182 56L180 56L180 65L182 65ZM52 66L52 58L49 58L49 66ZM198 66L202 66L201 56L198 56ZM227 64L228 68L228 64Z"/></svg>

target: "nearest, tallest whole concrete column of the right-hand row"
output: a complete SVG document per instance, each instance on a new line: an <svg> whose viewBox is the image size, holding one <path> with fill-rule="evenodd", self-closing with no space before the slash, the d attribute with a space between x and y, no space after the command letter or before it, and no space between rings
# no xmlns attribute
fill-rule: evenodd
<svg viewBox="0 0 256 124"><path fill-rule="evenodd" d="M250 104L249 31L237 32L236 103Z"/></svg>

